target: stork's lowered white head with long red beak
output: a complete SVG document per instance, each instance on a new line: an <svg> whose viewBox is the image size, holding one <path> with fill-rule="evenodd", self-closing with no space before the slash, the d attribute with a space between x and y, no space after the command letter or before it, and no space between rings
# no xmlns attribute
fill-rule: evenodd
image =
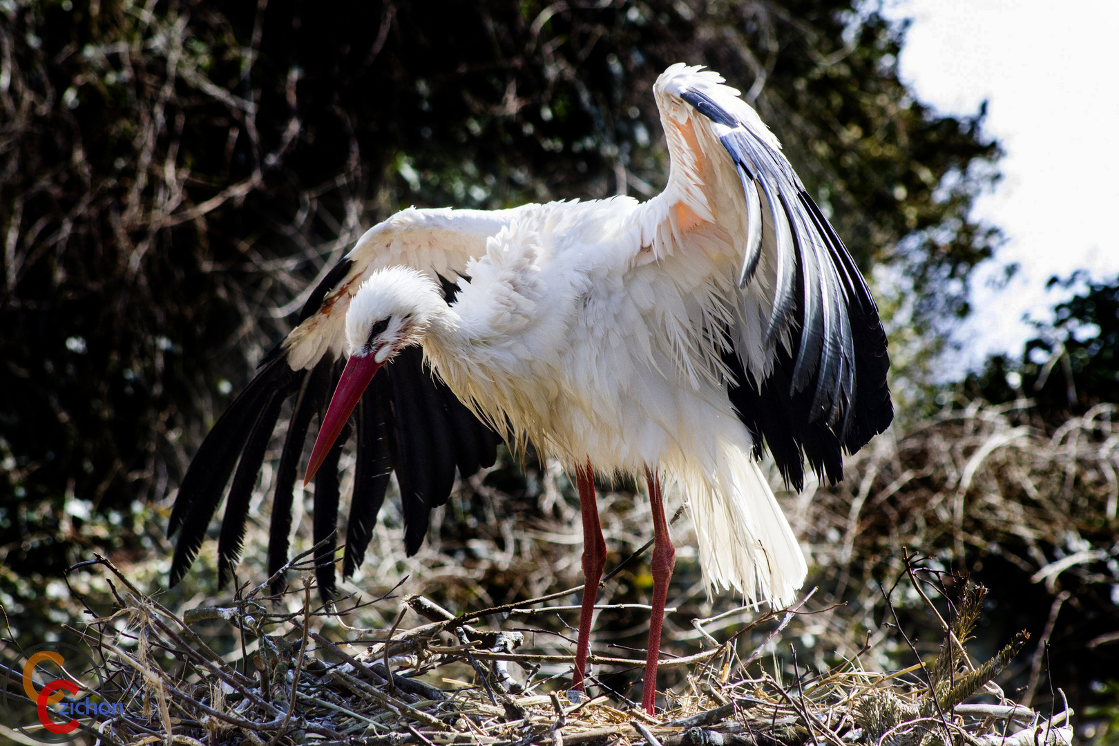
<svg viewBox="0 0 1119 746"><path fill-rule="evenodd" d="M361 284L346 312L349 361L322 417L304 484L322 465L374 375L405 347L422 343L441 308L446 303L439 286L410 267L378 270Z"/></svg>

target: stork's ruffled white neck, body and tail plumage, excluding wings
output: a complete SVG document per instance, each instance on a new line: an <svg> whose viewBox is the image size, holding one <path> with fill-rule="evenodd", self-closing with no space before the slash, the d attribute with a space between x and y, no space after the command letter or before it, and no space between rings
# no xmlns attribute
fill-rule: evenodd
<svg viewBox="0 0 1119 746"><path fill-rule="evenodd" d="M551 234L540 224L556 217L542 208L491 238L432 323L432 368L488 422L570 469L587 457L608 473L656 464L689 506L708 582L791 601L803 557L702 344L712 306L726 304L696 296L709 267L689 257L619 266L581 238L621 208Z"/></svg>

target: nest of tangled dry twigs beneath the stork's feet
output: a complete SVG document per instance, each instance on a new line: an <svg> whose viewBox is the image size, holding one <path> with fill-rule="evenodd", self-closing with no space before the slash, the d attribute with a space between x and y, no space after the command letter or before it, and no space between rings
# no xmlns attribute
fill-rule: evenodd
<svg viewBox="0 0 1119 746"><path fill-rule="evenodd" d="M289 592L294 603L286 608L282 598L266 595L263 583L241 586L232 606L182 615L141 593L109 560L92 560L115 576L109 582L116 608L72 632L103 662L113 691L100 692L102 698L125 707L91 735L128 746L1025 746L1072 739L1068 705L1043 717L1009 701L993 683L1021 650L1024 633L984 663L968 655L981 586L965 587L950 623L929 604L944 631L940 652L900 671L866 670L862 661L873 657L856 654L824 671L794 662L792 677L780 667L767 672L767 651L793 617L810 613L811 593L790 608L755 610L752 621L733 631L712 624L718 617L695 620L705 648L661 662L662 669L683 668L685 683L665 692L664 709L650 717L618 692L589 698L563 691L573 657L536 652L534 634L505 626L516 613L554 608L546 604L579 588L458 616L423 596L406 596L389 629L356 629L346 624L347 615L397 601L350 597L317 606L307 559L312 554L291 564L301 572L302 587ZM410 618L423 622L402 625L408 610ZM491 627L482 629L486 623ZM236 634L225 655L196 632L215 625ZM723 639L705 625L717 627ZM764 642L740 651L735 643L759 629L768 630ZM643 658L599 655L591 663L599 671L637 669ZM968 702L977 696L987 701Z"/></svg>

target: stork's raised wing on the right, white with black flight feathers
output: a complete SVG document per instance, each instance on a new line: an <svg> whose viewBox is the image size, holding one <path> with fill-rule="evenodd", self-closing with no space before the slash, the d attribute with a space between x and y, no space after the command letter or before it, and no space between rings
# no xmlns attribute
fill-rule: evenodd
<svg viewBox="0 0 1119 746"><path fill-rule="evenodd" d="M673 65L653 91L671 154L646 206L657 257L711 262L706 282L734 306L720 362L760 454L803 485L803 459L833 482L893 418L878 310L843 242L739 92L716 73ZM681 259L683 261L683 259Z"/></svg>

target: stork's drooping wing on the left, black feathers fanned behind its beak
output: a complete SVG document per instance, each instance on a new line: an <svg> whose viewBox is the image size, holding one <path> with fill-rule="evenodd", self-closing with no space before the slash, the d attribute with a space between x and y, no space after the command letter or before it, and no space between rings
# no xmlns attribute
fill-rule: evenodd
<svg viewBox="0 0 1119 746"><path fill-rule="evenodd" d="M170 584L186 574L198 555L223 494L225 513L218 536L218 577L224 583L244 544L250 498L265 450L292 399L288 432L273 478L269 574L288 563L292 495L308 429L321 417L341 374L345 317L364 280L388 265L408 265L441 277L466 271L485 253L486 239L517 210L408 209L370 228L354 249L319 282L299 314L299 324L261 361L256 376L217 421L195 454L179 485L168 536L178 532ZM457 286L444 282L450 296ZM389 474L401 488L405 545L419 550L432 508L446 502L460 478L489 466L500 437L464 407L454 394L423 374L423 351L413 347L385 367L361 397L349 427L314 478L313 538L326 540L316 554L319 586L335 589L331 538L338 519L338 461L356 429L357 464L342 565L349 576L365 557ZM231 482L229 476L233 475ZM228 484L228 492L226 487ZM283 579L276 580L276 589Z"/></svg>

